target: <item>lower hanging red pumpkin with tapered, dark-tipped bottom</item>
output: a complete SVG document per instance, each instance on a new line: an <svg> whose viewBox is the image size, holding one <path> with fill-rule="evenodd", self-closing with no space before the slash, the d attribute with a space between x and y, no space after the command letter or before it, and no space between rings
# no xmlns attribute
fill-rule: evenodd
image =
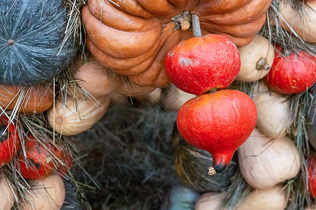
<svg viewBox="0 0 316 210"><path fill-rule="evenodd" d="M211 153L213 167L221 173L254 130L256 120L256 105L247 94L220 90L185 102L177 127L189 144Z"/></svg>

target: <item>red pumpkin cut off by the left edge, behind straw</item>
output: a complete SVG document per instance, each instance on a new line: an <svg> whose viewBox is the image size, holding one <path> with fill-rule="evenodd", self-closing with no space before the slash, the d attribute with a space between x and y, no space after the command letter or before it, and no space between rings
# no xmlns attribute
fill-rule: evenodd
<svg viewBox="0 0 316 210"><path fill-rule="evenodd" d="M20 146L15 125L9 124L8 118L0 117L0 168L10 162Z"/></svg>

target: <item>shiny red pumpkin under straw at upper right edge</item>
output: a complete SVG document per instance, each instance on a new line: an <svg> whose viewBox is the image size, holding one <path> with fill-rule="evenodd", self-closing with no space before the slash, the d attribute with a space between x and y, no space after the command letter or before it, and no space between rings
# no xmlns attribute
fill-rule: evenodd
<svg viewBox="0 0 316 210"><path fill-rule="evenodd" d="M316 82L316 59L305 51L291 53L287 57L276 52L272 68L264 80L277 92L303 92Z"/></svg>

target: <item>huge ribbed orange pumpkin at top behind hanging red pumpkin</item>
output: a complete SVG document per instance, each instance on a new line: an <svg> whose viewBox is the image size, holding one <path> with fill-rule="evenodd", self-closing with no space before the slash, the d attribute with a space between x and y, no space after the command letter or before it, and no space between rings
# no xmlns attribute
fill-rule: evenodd
<svg viewBox="0 0 316 210"><path fill-rule="evenodd" d="M270 2L91 0L82 10L86 45L103 66L136 85L163 87L169 83L164 58L173 45L193 36L185 30L192 13L199 16L203 35L224 34L243 46L263 26Z"/></svg>

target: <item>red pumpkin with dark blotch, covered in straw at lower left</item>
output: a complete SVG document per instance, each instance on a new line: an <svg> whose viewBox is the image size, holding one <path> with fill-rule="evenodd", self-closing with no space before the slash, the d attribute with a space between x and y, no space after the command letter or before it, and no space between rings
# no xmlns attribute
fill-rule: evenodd
<svg viewBox="0 0 316 210"><path fill-rule="evenodd" d="M42 179L46 176L53 174L58 169L58 161L62 160L64 153L59 151L51 144L45 146L39 144L34 137L29 137L26 141L26 160L25 156L18 155L18 166L20 168L20 174L24 179ZM51 153L54 154L51 155Z"/></svg>

